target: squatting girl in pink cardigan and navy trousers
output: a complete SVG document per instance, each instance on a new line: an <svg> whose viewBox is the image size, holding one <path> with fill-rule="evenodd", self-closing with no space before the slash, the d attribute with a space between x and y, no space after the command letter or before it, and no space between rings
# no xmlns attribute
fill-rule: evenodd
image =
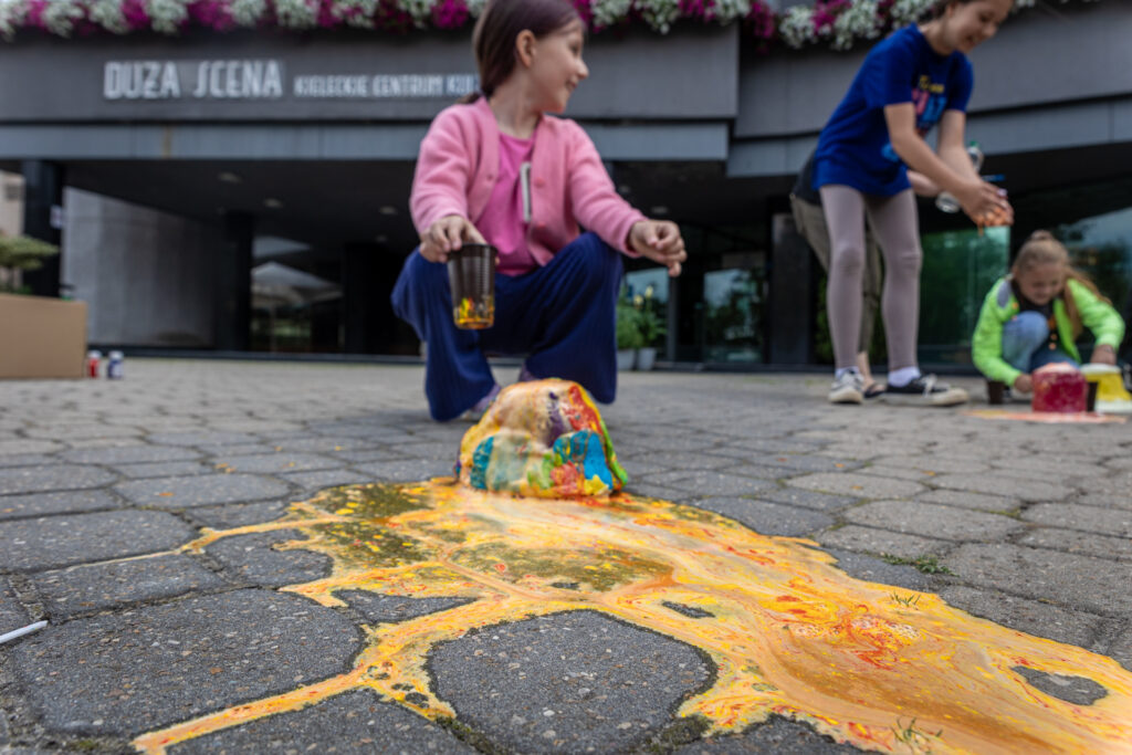
<svg viewBox="0 0 1132 755"><path fill-rule="evenodd" d="M576 380L612 402L619 254L674 276L687 259L675 223L646 218L617 194L585 131L546 115L561 113L589 76L584 31L567 0L489 0L472 37L482 94L440 112L421 141L410 199L421 243L393 308L428 343L424 394L436 420L478 417L495 398L484 351L528 354L520 379ZM465 241L499 250L486 331L452 319L445 264Z"/></svg>

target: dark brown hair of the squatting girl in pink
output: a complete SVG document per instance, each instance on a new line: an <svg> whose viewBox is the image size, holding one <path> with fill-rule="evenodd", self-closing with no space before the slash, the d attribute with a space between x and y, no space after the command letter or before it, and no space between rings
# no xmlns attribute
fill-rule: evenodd
<svg viewBox="0 0 1132 755"><path fill-rule="evenodd" d="M480 91L461 102L490 97L515 70L515 37L528 29L542 38L580 22L569 0L488 0L472 32L472 50L480 70Z"/></svg>

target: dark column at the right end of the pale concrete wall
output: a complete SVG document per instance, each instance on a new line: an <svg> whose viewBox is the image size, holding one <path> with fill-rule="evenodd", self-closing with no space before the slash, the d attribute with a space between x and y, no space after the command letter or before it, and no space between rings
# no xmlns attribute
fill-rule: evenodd
<svg viewBox="0 0 1132 755"><path fill-rule="evenodd" d="M224 243L216 256L216 349L248 351L251 341L251 241L256 218L224 215Z"/></svg>

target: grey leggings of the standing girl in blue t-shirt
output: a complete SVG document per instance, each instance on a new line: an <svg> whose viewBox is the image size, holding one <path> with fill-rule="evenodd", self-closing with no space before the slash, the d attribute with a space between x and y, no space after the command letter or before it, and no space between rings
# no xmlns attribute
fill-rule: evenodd
<svg viewBox="0 0 1132 755"><path fill-rule="evenodd" d="M865 213L884 254L881 314L889 345L889 370L916 366L919 329L919 272L924 252L911 189L892 197L861 194L848 186L821 188L830 229L830 284L826 306L838 369L857 363L861 275L865 268Z"/></svg>

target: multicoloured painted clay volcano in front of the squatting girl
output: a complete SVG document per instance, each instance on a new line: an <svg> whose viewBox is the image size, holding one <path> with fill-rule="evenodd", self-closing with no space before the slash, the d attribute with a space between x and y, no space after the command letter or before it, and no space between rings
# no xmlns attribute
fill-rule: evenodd
<svg viewBox="0 0 1132 755"><path fill-rule="evenodd" d="M590 394L556 379L504 388L464 434L456 474L472 488L539 498L608 496L628 480Z"/></svg>

